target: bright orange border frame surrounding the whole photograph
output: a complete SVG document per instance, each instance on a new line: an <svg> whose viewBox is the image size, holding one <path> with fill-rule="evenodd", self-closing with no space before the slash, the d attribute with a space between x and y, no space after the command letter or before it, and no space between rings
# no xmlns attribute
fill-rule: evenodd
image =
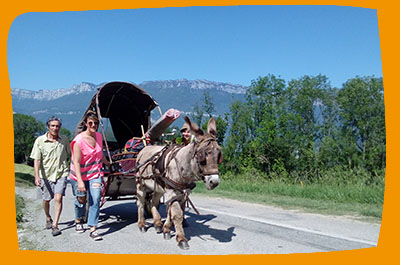
<svg viewBox="0 0 400 265"><path fill-rule="evenodd" d="M387 0L331 0L331 1L306 1L306 0L186 0L186 1L17 1L3 3L0 10L0 113L2 121L6 123L1 131L2 152L0 153L2 161L1 177L2 183L2 248L1 252L4 258L11 262L25 264L44 264L55 262L61 264L96 263L100 264L129 264L144 262L164 263L164 262L190 262L191 264L205 263L250 263L250 262L268 262L268 263L291 263L291 264L340 264L340 263L360 263L377 264L382 261L396 260L397 242L399 238L399 229L396 222L399 192L399 178L395 172L399 169L400 163L395 162L399 150L399 141L396 136L400 135L399 126L396 124L396 114L399 113L400 104L398 89L396 88L396 63L399 61L397 32L399 27L398 7L399 3ZM83 254L83 253L62 253L51 251L21 251L18 249L18 238L15 223L15 205L14 205L14 166L13 166L13 120L11 105L11 89L8 78L7 68L7 37L11 24L14 19L27 12L60 12L60 11L80 11L80 10L107 10L107 9L135 9L135 8L161 8L172 6L231 6L231 5L340 5L354 6L376 9L378 13L379 35L382 54L382 69L384 75L385 87L385 108L386 108L386 135L387 135L387 168L386 168L386 189L385 202L383 208L382 226L378 246L361 250L349 250L327 253L309 253L309 254L290 254L290 255L227 255L227 256L186 256L186 255L117 255L117 254ZM397 103L397 104L396 104ZM399 166L399 167L398 167ZM4 260L3 258L3 260Z"/></svg>

